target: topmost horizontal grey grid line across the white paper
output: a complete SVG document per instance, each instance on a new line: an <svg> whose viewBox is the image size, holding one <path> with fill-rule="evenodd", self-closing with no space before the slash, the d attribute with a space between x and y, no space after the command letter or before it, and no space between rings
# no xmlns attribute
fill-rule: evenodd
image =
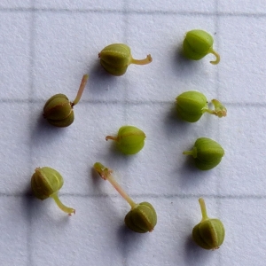
<svg viewBox="0 0 266 266"><path fill-rule="evenodd" d="M179 16L218 16L218 17L255 17L264 18L266 12L173 12L173 11L143 11L143 10L112 10L112 9L66 9L66 8L0 8L0 12L49 12L49 13L108 13L108 14L150 14Z"/></svg>

